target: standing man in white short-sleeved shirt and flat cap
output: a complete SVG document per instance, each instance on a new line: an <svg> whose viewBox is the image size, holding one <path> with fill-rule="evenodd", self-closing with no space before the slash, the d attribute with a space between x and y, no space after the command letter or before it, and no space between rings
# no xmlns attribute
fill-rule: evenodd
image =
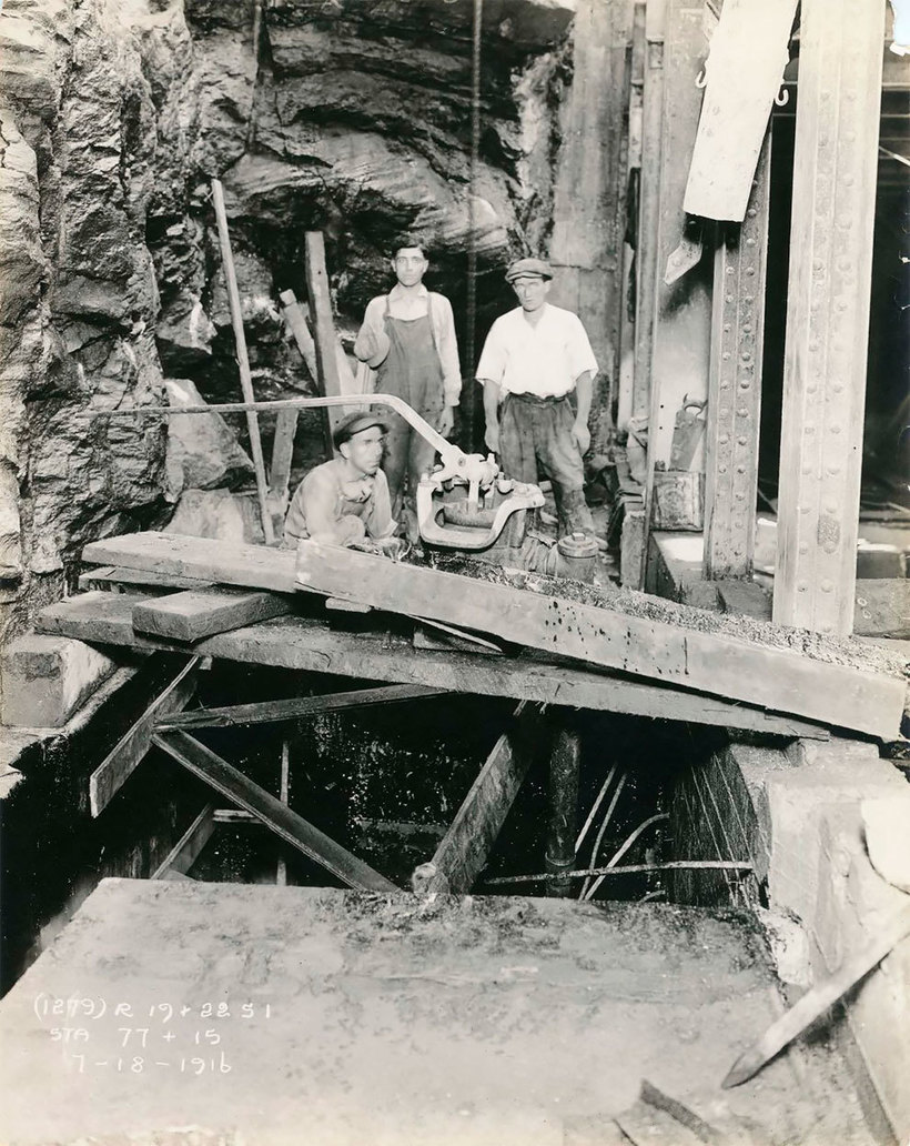
<svg viewBox="0 0 910 1146"><path fill-rule="evenodd" d="M543 259L519 259L506 272L521 305L492 324L477 364L485 441L508 477L537 482L543 471L549 478L560 536L593 536L581 457L591 445L598 362L578 315L547 301L552 280Z"/></svg>

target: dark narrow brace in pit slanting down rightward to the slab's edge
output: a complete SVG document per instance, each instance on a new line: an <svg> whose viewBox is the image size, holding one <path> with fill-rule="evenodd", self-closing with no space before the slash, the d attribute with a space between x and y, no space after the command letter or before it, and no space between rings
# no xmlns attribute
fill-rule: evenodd
<svg viewBox="0 0 910 1146"><path fill-rule="evenodd" d="M264 788L253 784L243 772L187 732L156 732L152 743L232 803L251 811L286 843L331 871L348 887L364 892L398 890L385 876L342 848L302 816L298 816Z"/></svg>

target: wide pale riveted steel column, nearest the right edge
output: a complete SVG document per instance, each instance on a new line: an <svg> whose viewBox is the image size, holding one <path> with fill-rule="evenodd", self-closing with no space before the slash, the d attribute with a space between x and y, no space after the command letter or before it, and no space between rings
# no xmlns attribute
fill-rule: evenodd
<svg viewBox="0 0 910 1146"><path fill-rule="evenodd" d="M853 627L885 6L804 0L774 619Z"/></svg>

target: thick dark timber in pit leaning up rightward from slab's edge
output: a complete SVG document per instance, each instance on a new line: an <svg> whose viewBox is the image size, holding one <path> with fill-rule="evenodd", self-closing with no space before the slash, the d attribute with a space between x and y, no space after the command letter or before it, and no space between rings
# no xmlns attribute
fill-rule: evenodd
<svg viewBox="0 0 910 1146"><path fill-rule="evenodd" d="M430 861L435 873L421 894L466 895L483 870L508 810L531 764L539 713L519 705L514 727L496 741L470 791Z"/></svg>

